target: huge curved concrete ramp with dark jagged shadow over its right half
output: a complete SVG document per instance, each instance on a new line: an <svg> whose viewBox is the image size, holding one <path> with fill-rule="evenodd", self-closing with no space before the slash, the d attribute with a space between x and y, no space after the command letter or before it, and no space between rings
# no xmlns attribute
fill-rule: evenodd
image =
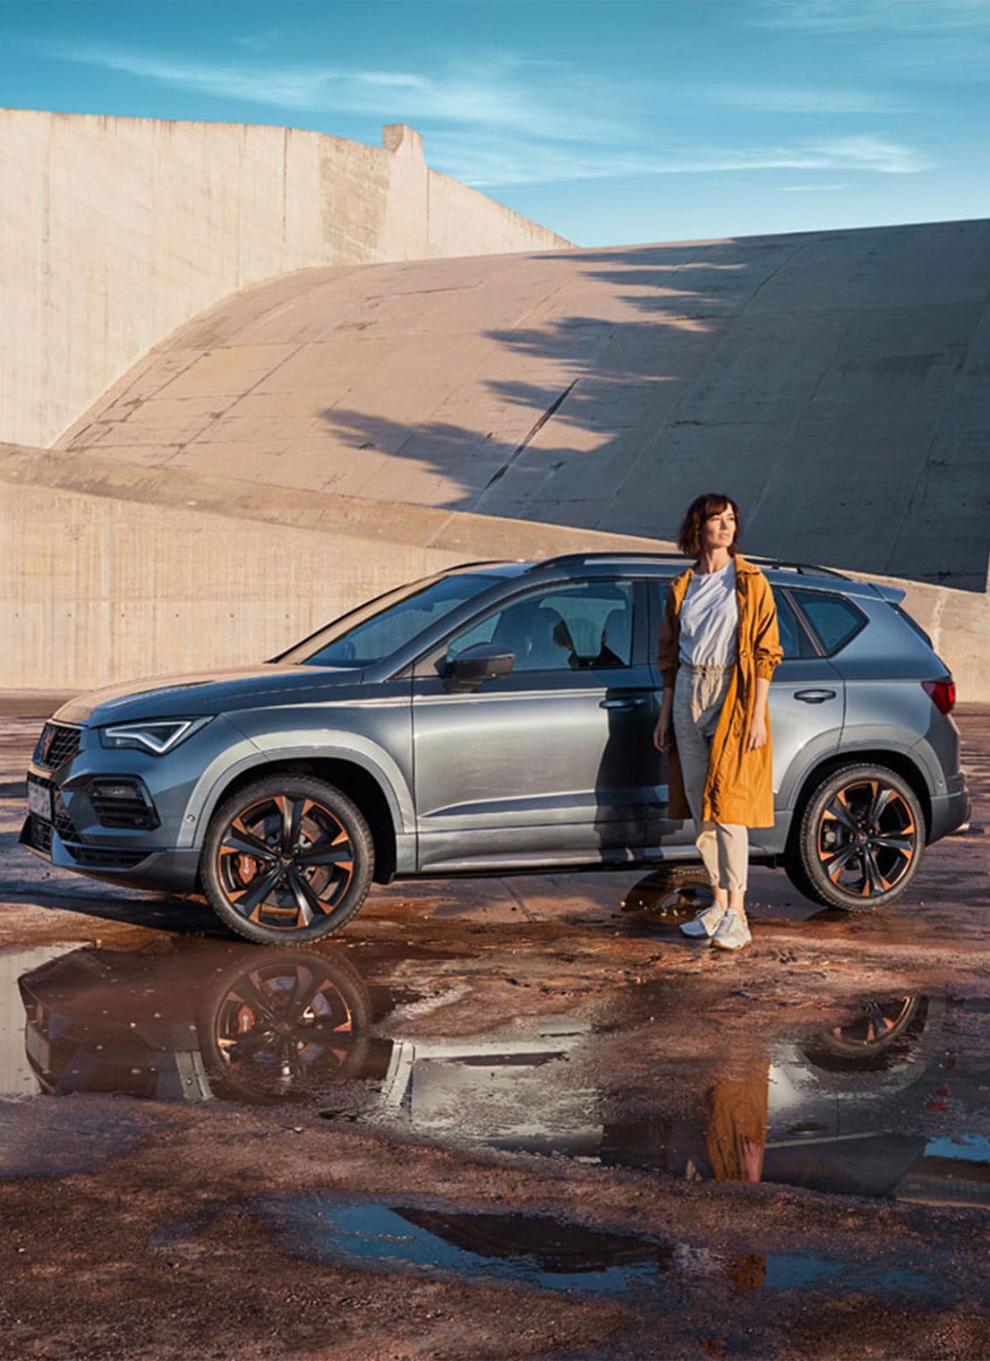
<svg viewBox="0 0 990 1361"><path fill-rule="evenodd" d="M990 222L307 269L158 346L67 455L985 592Z"/></svg>

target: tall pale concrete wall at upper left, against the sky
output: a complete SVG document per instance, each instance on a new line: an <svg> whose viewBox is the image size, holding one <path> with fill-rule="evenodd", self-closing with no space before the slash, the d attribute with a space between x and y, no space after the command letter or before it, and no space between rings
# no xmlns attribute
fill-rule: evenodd
<svg viewBox="0 0 990 1361"><path fill-rule="evenodd" d="M175 327L310 265L558 249L385 147L317 132L0 110L0 438L48 445Z"/></svg>

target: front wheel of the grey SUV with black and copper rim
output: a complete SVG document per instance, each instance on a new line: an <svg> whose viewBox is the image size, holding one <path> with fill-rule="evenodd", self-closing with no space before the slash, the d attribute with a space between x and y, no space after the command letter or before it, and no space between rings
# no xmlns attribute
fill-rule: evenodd
<svg viewBox="0 0 990 1361"><path fill-rule="evenodd" d="M374 842L332 784L276 774L224 799L209 821L201 874L231 931L260 945L320 940L367 897Z"/></svg>

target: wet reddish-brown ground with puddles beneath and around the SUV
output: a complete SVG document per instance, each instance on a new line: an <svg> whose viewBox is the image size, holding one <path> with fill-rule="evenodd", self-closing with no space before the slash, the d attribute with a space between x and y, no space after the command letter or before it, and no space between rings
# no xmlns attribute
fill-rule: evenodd
<svg viewBox="0 0 990 1361"><path fill-rule="evenodd" d="M990 712L885 913L755 870L394 885L314 950L16 845L0 1357L990 1356Z"/></svg>

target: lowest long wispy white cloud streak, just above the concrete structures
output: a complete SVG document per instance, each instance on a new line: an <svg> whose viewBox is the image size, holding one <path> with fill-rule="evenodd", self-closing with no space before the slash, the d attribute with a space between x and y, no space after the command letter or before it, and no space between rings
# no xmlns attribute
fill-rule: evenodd
<svg viewBox="0 0 990 1361"><path fill-rule="evenodd" d="M428 147L430 162L437 169L446 170L476 188L487 189L564 180L755 170L915 174L929 169L930 165L911 147L869 136L742 151L719 147L685 147L668 151L616 147L607 154L589 154L545 142L519 143L438 132L430 137Z"/></svg>

